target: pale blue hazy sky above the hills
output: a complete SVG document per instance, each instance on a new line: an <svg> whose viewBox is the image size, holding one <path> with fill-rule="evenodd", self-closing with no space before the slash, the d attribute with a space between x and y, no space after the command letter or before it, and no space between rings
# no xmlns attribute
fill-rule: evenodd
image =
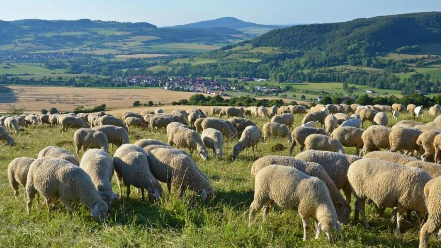
<svg viewBox="0 0 441 248"><path fill-rule="evenodd" d="M441 11L441 0L0 0L0 20L89 18L180 25L233 16L261 24L324 23Z"/></svg>

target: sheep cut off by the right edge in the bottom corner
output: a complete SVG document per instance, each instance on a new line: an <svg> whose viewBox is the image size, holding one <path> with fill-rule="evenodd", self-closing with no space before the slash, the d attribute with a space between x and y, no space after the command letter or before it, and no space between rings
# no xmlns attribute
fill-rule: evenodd
<svg viewBox="0 0 441 248"><path fill-rule="evenodd" d="M429 217L421 227L419 233L419 248L427 248L430 234L441 227L441 177L434 178L424 186L424 197L426 198L427 212Z"/></svg>

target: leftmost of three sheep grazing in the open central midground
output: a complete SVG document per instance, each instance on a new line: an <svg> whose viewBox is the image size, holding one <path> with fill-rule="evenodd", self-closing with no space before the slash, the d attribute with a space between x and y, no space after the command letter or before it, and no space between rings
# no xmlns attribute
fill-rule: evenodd
<svg viewBox="0 0 441 248"><path fill-rule="evenodd" d="M200 135L193 130L184 127L174 127L170 130L167 138L170 146L176 145L177 148L188 148L190 154L193 153L193 150L197 150L197 155L200 155L203 160L208 158L207 150Z"/></svg>

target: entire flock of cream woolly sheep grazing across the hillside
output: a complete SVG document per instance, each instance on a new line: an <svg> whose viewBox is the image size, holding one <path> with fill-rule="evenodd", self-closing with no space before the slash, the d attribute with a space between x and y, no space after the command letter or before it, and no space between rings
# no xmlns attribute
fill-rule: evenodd
<svg viewBox="0 0 441 248"><path fill-rule="evenodd" d="M402 112L415 117L389 128L387 112L394 119ZM440 105L431 107L428 113L439 115ZM304 115L301 126L293 126L294 114ZM0 140L13 145L8 131L17 133L20 126L49 124L59 127L61 132L77 129L73 140L76 155L84 152L81 161L65 149L44 148L37 159L21 157L9 164L10 185L15 196L19 194L19 185L25 188L28 213L33 199L42 196L48 208L59 199L68 212L72 211L71 202L81 202L94 218L103 221L113 200L122 198L123 185L127 199L130 186L134 186L140 189L143 200L147 190L147 197L158 201L163 195L159 182L163 182L169 193L173 186L182 197L188 189L209 202L214 189L193 160L194 151L203 160L209 159L209 150L213 157L225 156L227 139L236 143L232 148L232 158L236 159L244 149L248 155L248 148L256 156L262 140L286 138L291 145L290 156L269 155L252 165L255 188L249 226L254 223L257 210L262 209L265 221L271 206L276 204L298 212L304 240L309 219L313 218L315 238L324 233L327 241L332 242L335 232L342 235L341 225L350 221L353 194L354 219L357 221L361 215L366 227L366 200L375 205L380 216L385 208L393 209L395 234L400 233L404 214L411 220L416 212L419 223L424 222L419 245L424 248L430 235L441 227L441 115L426 124L417 121L423 115L424 109L413 104L407 108L401 104L319 104L309 110L304 106L213 107L211 113L192 108L175 109L170 114L156 109L123 113L122 118L105 112L21 115L0 117ZM223 116L228 119L222 119ZM246 119L250 116L270 122L259 129ZM361 126L365 121L372 125L364 130ZM318 124L321 128L316 127ZM129 128L165 131L168 144L153 139L130 144ZM118 147L113 158L108 153L110 144ZM297 144L301 152L291 157ZM345 147L355 147L356 154L345 154ZM112 191L114 172L119 196Z"/></svg>

